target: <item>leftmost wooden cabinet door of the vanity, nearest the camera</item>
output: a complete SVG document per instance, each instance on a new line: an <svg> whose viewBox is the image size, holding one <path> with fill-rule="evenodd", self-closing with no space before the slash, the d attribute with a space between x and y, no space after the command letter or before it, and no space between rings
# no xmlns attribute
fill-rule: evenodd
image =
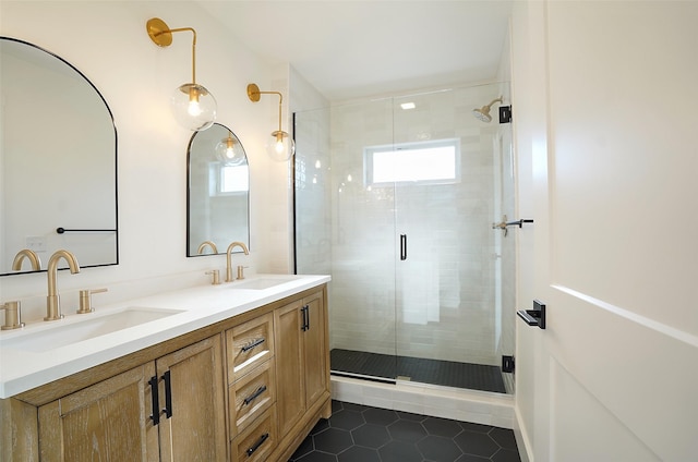
<svg viewBox="0 0 698 462"><path fill-rule="evenodd" d="M159 461L153 363L39 408L41 461Z"/></svg>

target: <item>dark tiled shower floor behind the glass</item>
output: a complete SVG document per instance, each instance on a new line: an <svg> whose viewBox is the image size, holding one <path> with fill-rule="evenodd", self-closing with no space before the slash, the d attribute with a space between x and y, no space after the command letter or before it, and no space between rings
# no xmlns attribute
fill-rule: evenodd
<svg viewBox="0 0 698 462"><path fill-rule="evenodd" d="M409 377L420 384L467 388L505 393L502 369L482 364L393 356L389 354L333 349L329 352L333 373L361 375L394 380Z"/></svg>

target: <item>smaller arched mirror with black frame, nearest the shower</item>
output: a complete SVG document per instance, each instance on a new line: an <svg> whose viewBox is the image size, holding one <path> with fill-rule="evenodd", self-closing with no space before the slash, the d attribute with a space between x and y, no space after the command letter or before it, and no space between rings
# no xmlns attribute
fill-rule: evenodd
<svg viewBox="0 0 698 462"><path fill-rule="evenodd" d="M192 136L186 192L188 257L225 254L233 241L250 247L248 156L227 126L214 123Z"/></svg>

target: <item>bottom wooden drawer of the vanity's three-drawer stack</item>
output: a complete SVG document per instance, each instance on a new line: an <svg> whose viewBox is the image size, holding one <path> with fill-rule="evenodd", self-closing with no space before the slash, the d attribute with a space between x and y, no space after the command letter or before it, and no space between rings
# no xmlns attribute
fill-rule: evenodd
<svg viewBox="0 0 698 462"><path fill-rule="evenodd" d="M276 405L272 405L240 436L232 440L230 454L233 462L266 461L277 445Z"/></svg>

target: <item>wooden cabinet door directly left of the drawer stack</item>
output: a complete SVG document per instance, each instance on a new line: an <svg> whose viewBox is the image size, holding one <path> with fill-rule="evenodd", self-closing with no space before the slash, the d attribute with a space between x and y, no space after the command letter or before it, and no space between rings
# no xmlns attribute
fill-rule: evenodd
<svg viewBox="0 0 698 462"><path fill-rule="evenodd" d="M225 461L225 378L221 337L215 336L156 361L161 461Z"/></svg>

